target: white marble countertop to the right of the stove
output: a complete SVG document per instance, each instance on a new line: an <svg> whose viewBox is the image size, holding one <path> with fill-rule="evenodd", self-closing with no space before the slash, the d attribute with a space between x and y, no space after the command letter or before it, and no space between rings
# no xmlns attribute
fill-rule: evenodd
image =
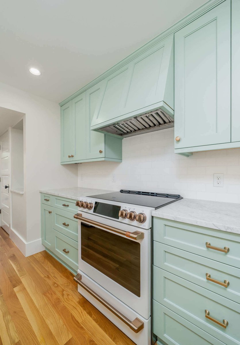
<svg viewBox="0 0 240 345"><path fill-rule="evenodd" d="M153 211L152 216L240 234L240 204L181 199Z"/></svg>

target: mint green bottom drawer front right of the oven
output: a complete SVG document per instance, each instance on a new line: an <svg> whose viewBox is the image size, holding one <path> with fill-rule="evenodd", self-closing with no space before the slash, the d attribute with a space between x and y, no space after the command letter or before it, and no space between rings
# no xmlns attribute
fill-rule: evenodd
<svg viewBox="0 0 240 345"><path fill-rule="evenodd" d="M153 300L153 333L168 345L224 345L212 335L193 325Z"/></svg>

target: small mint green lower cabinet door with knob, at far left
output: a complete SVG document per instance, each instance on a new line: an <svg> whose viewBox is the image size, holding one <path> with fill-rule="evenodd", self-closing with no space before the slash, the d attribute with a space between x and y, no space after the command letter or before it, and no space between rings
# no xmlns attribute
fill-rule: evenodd
<svg viewBox="0 0 240 345"><path fill-rule="evenodd" d="M42 244L50 250L53 248L52 210L52 206L41 204Z"/></svg>

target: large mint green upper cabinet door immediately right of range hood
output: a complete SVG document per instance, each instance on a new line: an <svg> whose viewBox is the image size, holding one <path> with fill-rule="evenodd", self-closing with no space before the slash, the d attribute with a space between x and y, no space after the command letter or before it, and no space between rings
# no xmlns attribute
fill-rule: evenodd
<svg viewBox="0 0 240 345"><path fill-rule="evenodd" d="M175 33L174 73L175 148L230 142L230 0Z"/></svg>

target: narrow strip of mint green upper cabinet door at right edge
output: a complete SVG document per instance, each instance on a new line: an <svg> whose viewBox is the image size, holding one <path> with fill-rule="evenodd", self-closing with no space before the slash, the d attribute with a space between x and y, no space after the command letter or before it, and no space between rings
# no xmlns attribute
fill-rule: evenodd
<svg viewBox="0 0 240 345"><path fill-rule="evenodd" d="M232 128L231 141L240 141L240 1L232 0Z"/></svg>

